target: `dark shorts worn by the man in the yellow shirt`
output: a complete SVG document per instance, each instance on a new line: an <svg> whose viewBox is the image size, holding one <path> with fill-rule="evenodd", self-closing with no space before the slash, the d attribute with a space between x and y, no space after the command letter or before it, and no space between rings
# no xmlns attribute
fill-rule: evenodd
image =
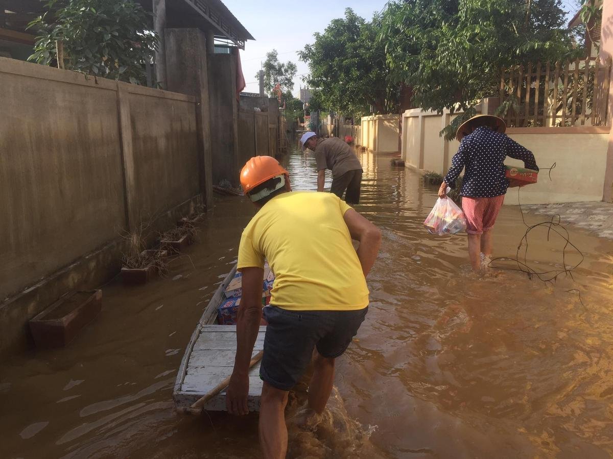
<svg viewBox="0 0 613 459"><path fill-rule="evenodd" d="M264 307L267 321L260 378L289 390L311 362L313 348L329 359L340 357L356 336L368 307L356 311L288 311Z"/></svg>

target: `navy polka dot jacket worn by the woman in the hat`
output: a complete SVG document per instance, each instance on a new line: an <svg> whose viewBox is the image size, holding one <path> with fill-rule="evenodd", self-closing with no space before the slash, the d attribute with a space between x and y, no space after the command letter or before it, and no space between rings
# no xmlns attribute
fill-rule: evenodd
<svg viewBox="0 0 613 459"><path fill-rule="evenodd" d="M460 195L471 198L491 198L506 193L509 181L504 177L504 159L509 156L524 161L524 167L538 171L532 152L508 135L489 127L478 127L460 142L451 160L445 182L455 188L455 180L465 168Z"/></svg>

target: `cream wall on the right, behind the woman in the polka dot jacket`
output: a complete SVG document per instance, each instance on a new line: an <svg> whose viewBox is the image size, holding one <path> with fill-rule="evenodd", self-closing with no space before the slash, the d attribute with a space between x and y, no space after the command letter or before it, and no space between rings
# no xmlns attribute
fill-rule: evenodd
<svg viewBox="0 0 613 459"><path fill-rule="evenodd" d="M483 105L479 111L487 113ZM402 157L408 166L445 174L459 142L445 141L439 132L457 114L406 110L403 114ZM600 201L607 161L609 127L535 127L509 128L508 135L535 154L541 168L552 170L539 174L539 182L522 188L522 204ZM523 162L507 158L509 165ZM517 204L517 188L509 188L505 204Z"/></svg>

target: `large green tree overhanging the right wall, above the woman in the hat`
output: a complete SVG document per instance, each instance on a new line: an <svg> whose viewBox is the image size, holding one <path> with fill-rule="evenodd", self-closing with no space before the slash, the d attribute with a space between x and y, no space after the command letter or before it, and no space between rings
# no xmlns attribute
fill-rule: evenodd
<svg viewBox="0 0 613 459"><path fill-rule="evenodd" d="M462 110L445 134L498 94L500 69L576 58L560 0L396 0L380 34L392 81L413 89L413 103L441 113Z"/></svg>

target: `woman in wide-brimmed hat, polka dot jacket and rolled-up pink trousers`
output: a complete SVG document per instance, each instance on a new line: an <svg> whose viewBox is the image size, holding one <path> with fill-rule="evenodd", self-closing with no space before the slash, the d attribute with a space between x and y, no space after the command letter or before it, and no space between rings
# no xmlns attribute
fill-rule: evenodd
<svg viewBox="0 0 613 459"><path fill-rule="evenodd" d="M446 198L447 186L455 188L455 180L465 169L460 195L474 270L492 256L492 227L509 187L504 159L520 159L526 168L538 171L532 152L504 134L505 130L504 120L492 115L477 115L464 122L457 132L460 147L438 190L438 196Z"/></svg>

